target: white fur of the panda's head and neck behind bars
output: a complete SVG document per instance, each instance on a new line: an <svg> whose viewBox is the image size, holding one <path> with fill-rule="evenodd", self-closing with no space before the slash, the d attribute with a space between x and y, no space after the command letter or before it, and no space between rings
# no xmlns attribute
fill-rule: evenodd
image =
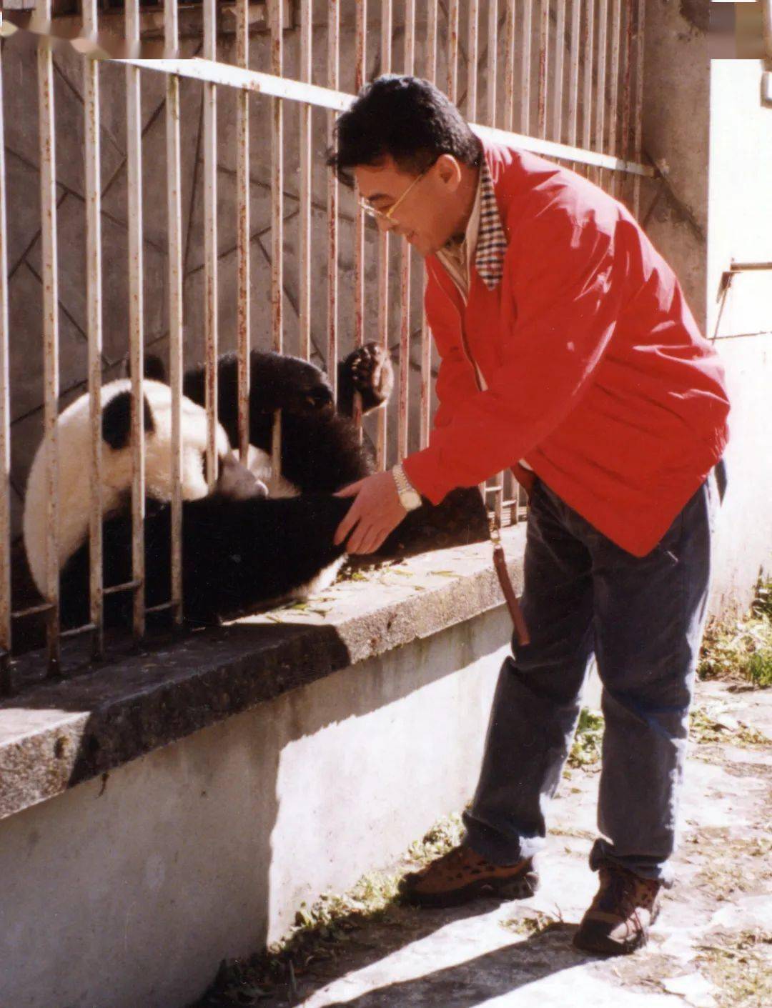
<svg viewBox="0 0 772 1008"><path fill-rule="evenodd" d="M162 382L145 379L144 396L152 414L153 430L145 437L145 493L159 501L172 499L172 390ZM102 409L131 382L118 379L102 386ZM206 410L191 399L182 399L182 495L197 500L208 493L204 473L207 443ZM59 438L59 563L60 569L85 542L89 534L90 498L88 460L91 456L89 397L76 399L60 415ZM45 594L45 525L47 487L45 474L46 440L38 447L27 480L24 500L24 548L32 578ZM230 451L228 436L217 424L216 450L219 458ZM262 453L260 453L262 454ZM108 516L125 504L131 487L131 450L113 450L102 442L102 509Z"/></svg>

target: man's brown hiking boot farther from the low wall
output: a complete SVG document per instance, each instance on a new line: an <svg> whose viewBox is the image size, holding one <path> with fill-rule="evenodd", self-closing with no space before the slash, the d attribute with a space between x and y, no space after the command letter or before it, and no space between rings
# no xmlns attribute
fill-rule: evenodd
<svg viewBox="0 0 772 1008"><path fill-rule="evenodd" d="M600 956L626 956L645 946L660 909L662 883L605 862L600 885L573 936L576 949Z"/></svg>

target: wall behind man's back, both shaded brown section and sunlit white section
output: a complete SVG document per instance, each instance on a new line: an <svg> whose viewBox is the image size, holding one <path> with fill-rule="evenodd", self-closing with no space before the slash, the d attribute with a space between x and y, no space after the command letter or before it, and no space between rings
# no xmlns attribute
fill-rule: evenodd
<svg viewBox="0 0 772 1008"><path fill-rule="evenodd" d="M760 101L760 62L711 65L702 15L699 3L646 5L644 148L666 177L645 186L642 219L712 337L719 281L731 258L772 261L772 109ZM770 330L772 273L738 277L715 344L733 410L713 615L744 610L760 573L772 570Z"/></svg>

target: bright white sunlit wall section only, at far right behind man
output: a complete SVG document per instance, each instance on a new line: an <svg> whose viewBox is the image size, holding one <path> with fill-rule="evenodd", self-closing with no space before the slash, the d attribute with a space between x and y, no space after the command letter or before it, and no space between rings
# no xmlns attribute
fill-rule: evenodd
<svg viewBox="0 0 772 1008"><path fill-rule="evenodd" d="M772 575L772 270L738 274L721 321L716 297L733 259L772 263L772 108L760 101L762 71L755 59L714 59L710 74L707 329L733 405L716 612L746 608L757 578Z"/></svg>

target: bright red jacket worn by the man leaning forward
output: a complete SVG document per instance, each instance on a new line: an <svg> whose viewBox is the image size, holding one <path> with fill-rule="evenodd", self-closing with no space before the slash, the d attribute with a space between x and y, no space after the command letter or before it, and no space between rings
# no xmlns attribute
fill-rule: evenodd
<svg viewBox="0 0 772 1008"><path fill-rule="evenodd" d="M721 362L621 204L544 158L483 148L507 234L504 276L488 290L472 266L464 305L427 258L440 404L429 447L405 459L405 472L438 503L525 459L643 556L726 446Z"/></svg>

